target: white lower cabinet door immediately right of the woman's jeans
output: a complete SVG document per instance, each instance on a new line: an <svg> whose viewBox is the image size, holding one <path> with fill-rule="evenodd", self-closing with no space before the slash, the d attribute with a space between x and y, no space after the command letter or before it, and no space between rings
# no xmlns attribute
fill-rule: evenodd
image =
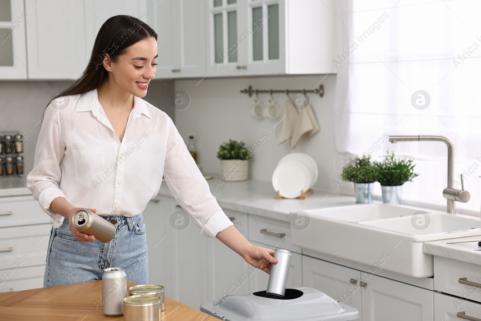
<svg viewBox="0 0 481 321"><path fill-rule="evenodd" d="M169 297L172 293L171 199L168 196L157 195L149 201L142 212L149 249L149 283L163 285L165 295Z"/></svg>

